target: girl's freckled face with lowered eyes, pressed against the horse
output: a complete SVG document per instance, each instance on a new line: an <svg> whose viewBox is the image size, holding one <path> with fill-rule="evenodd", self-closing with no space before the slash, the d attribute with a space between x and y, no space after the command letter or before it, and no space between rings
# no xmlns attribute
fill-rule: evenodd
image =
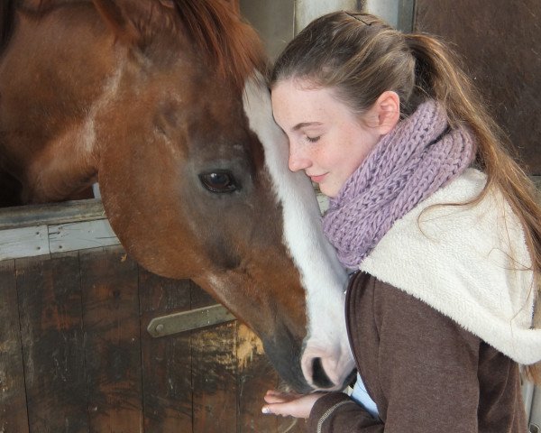
<svg viewBox="0 0 541 433"><path fill-rule="evenodd" d="M380 140L371 113L353 114L329 88L287 79L272 89L272 111L289 138L289 170L305 170L321 192L335 197ZM377 123L377 121L376 121Z"/></svg>

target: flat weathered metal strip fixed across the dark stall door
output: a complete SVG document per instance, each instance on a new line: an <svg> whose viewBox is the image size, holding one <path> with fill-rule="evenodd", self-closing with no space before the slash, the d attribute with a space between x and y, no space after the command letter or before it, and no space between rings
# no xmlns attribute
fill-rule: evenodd
<svg viewBox="0 0 541 433"><path fill-rule="evenodd" d="M190 309L181 313L160 316L160 318L152 318L147 331L151 336L157 338L191 331L200 327L210 327L234 319L234 315L228 309L225 309L220 304L215 304L202 309Z"/></svg>

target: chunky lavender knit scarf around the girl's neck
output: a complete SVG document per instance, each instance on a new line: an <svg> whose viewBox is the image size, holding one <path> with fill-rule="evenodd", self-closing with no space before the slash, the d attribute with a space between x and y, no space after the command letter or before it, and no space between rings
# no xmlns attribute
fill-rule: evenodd
<svg viewBox="0 0 541 433"><path fill-rule="evenodd" d="M466 129L447 130L434 100L399 124L353 172L323 218L340 262L356 268L396 220L453 180L475 156Z"/></svg>

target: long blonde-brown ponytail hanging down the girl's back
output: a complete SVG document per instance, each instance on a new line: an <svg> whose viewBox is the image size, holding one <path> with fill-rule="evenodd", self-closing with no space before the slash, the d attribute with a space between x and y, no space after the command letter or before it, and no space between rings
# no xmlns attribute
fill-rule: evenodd
<svg viewBox="0 0 541 433"><path fill-rule="evenodd" d="M434 36L405 35L416 58L416 89L413 99L433 97L447 111L452 126L467 125L476 137L477 164L487 174L487 186L475 202L489 190L501 191L524 226L527 247L532 258L536 315L533 324L541 327L541 207L536 188L512 158L508 139L481 102L454 53ZM541 383L541 363L526 367L530 380Z"/></svg>

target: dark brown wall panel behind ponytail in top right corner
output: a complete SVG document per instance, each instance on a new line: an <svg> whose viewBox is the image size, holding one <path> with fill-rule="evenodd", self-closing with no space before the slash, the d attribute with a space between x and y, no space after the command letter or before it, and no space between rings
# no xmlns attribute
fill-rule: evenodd
<svg viewBox="0 0 541 433"><path fill-rule="evenodd" d="M417 0L416 29L441 36L465 62L529 174L541 174L539 0Z"/></svg>

